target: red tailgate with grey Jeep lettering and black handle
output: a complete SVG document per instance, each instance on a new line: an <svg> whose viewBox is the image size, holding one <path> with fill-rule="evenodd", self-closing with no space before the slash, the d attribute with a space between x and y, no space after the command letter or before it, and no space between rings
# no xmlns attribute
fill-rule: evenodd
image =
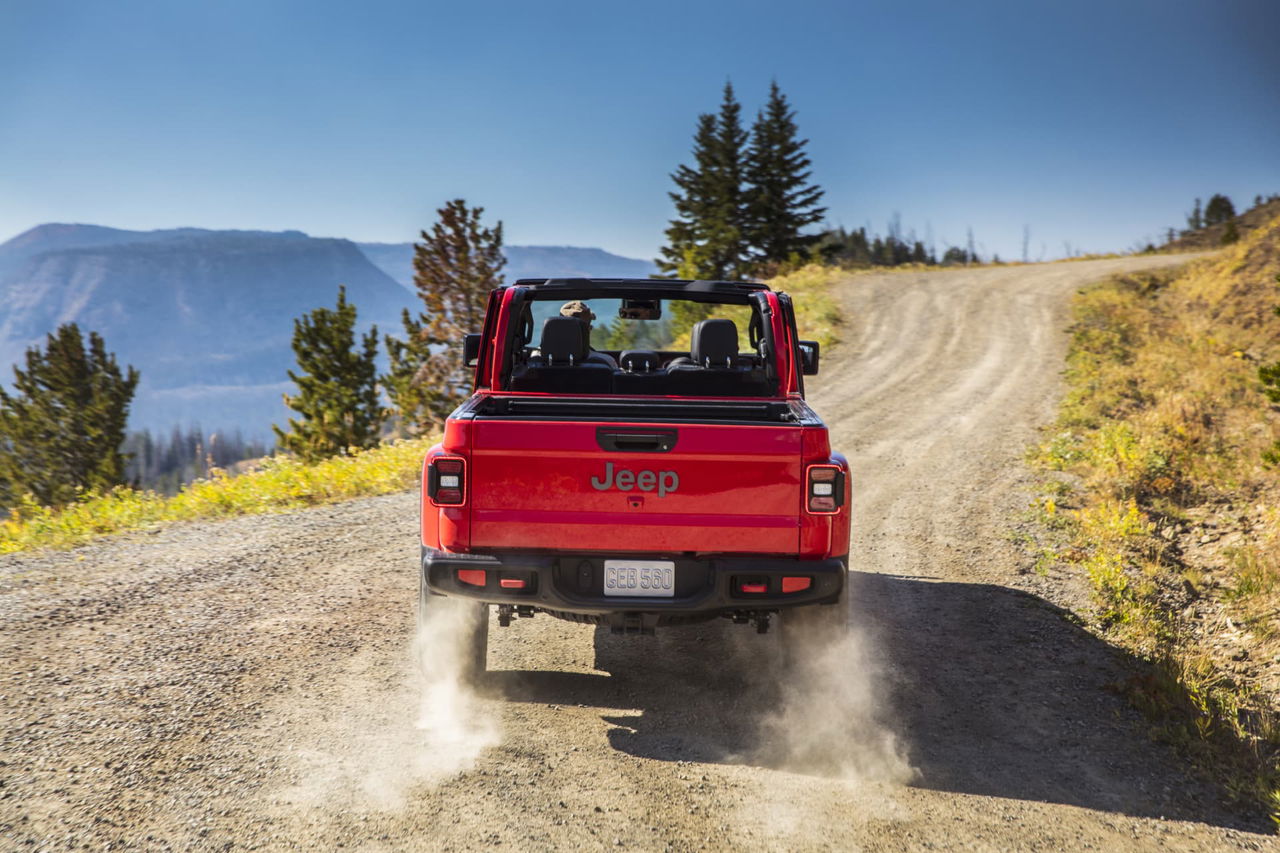
<svg viewBox="0 0 1280 853"><path fill-rule="evenodd" d="M471 548L799 551L801 430L488 420L471 426Z"/></svg>

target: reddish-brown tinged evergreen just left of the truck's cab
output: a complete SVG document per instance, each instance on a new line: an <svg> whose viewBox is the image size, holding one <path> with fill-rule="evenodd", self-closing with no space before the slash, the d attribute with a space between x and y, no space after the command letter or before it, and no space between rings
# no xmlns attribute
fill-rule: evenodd
<svg viewBox="0 0 1280 853"><path fill-rule="evenodd" d="M422 242L413 246L413 284L424 310L401 320L404 341L388 336L390 371L383 386L399 412L401 429L417 434L444 423L471 391L462 338L484 327L489 292L502 284L502 223L480 224L484 207L454 199Z"/></svg>

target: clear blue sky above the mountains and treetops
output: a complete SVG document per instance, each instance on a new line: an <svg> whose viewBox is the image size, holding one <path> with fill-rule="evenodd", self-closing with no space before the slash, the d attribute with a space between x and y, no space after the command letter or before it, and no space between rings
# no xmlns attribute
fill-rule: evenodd
<svg viewBox="0 0 1280 853"><path fill-rule="evenodd" d="M1123 250L1280 192L1280 3L0 1L0 240L41 222L652 257L732 79L776 78L832 224Z"/></svg>

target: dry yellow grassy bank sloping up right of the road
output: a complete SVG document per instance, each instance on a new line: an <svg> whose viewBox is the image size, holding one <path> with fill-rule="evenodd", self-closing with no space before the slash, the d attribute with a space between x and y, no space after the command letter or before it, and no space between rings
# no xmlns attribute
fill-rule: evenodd
<svg viewBox="0 0 1280 853"><path fill-rule="evenodd" d="M1277 273L1280 219L1078 296L1069 393L1036 457L1078 478L1042 508L1102 630L1152 662L1133 698L1280 816L1280 478L1263 462L1280 415L1258 380L1280 359Z"/></svg>

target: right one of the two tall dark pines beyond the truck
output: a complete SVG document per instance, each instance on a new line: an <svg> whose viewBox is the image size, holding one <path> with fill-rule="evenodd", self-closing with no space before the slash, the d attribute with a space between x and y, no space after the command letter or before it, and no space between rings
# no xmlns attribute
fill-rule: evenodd
<svg viewBox="0 0 1280 853"><path fill-rule="evenodd" d="M746 152L748 242L759 261L785 263L822 238L800 233L820 222L827 209L818 206L822 188L809 182L804 151L809 140L796 134L795 110L774 81L768 104L755 117Z"/></svg>

